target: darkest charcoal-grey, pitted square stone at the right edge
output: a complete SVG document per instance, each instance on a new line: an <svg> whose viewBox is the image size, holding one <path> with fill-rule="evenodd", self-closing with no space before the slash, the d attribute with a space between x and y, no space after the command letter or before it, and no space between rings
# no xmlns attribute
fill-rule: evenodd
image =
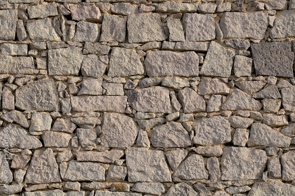
<svg viewBox="0 0 295 196"><path fill-rule="evenodd" d="M256 75L293 77L291 41L251 44Z"/></svg>

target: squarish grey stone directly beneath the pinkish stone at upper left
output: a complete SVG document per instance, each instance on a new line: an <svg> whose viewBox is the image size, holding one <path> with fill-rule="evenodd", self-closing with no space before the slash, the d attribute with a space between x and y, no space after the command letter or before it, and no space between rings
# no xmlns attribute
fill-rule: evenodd
<svg viewBox="0 0 295 196"><path fill-rule="evenodd" d="M99 39L100 29L97 24L85 21L77 23L77 30L73 41L77 42L96 42Z"/></svg>

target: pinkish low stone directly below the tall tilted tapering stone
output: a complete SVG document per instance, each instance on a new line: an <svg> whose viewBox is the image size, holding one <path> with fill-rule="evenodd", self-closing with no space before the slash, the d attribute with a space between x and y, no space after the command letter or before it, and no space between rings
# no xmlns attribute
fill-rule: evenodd
<svg viewBox="0 0 295 196"><path fill-rule="evenodd" d="M230 87L222 82L220 79L202 79L198 86L198 94L212 95L212 94L229 94Z"/></svg>

